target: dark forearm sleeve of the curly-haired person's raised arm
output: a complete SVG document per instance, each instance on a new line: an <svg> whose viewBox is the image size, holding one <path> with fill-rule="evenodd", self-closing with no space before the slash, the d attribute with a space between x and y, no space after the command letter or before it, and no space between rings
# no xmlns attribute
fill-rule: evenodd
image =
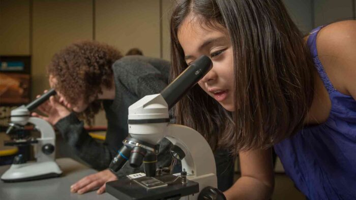
<svg viewBox="0 0 356 200"><path fill-rule="evenodd" d="M105 143L95 141L84 129L84 124L74 113L54 125L63 139L74 149L75 154L96 170L107 169L116 155Z"/></svg>

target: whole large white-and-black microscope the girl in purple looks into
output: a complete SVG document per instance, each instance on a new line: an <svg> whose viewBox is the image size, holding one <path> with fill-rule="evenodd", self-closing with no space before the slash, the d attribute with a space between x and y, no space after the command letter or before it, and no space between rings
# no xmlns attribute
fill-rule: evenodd
<svg viewBox="0 0 356 200"><path fill-rule="evenodd" d="M147 95L129 107L129 136L111 161L117 172L129 161L133 168L142 163L145 173L106 183L106 191L126 199L225 199L217 189L213 152L204 137L183 125L170 124L168 110L212 68L212 61L201 56L160 94ZM157 145L167 138L173 146L173 159L180 160L182 172L172 175L157 168Z"/></svg>

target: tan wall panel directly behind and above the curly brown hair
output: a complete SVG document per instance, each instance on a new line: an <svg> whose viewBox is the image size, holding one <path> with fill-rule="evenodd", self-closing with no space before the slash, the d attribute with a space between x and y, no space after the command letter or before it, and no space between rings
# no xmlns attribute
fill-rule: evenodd
<svg viewBox="0 0 356 200"><path fill-rule="evenodd" d="M34 0L33 97L48 88L46 66L54 53L93 38L93 1Z"/></svg>

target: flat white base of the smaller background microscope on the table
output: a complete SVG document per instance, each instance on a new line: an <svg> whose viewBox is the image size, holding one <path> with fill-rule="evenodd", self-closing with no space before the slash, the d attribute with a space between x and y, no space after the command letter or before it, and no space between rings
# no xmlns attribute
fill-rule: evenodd
<svg viewBox="0 0 356 200"><path fill-rule="evenodd" d="M1 180L4 182L21 182L38 179L47 179L62 175L62 171L54 161L27 162L12 164Z"/></svg>

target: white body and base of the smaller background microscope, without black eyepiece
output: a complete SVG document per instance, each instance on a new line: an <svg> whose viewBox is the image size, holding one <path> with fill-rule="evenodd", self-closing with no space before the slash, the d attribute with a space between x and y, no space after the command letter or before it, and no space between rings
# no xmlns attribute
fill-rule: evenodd
<svg viewBox="0 0 356 200"><path fill-rule="evenodd" d="M54 92L54 90L53 90ZM54 92L55 93L55 92ZM53 95L53 94L52 94ZM40 97L41 98L41 97ZM43 99L42 101L45 101ZM36 106L37 107L37 106ZM61 169L54 161L55 158L55 133L52 126L38 117L31 117L32 107L20 106L11 111L10 128L24 126L32 123L41 132L41 138L27 141L34 146L36 162L14 163L1 177L4 182L17 182L57 177L62 174ZM10 132L10 130L8 131ZM17 140L26 143L26 140Z"/></svg>

